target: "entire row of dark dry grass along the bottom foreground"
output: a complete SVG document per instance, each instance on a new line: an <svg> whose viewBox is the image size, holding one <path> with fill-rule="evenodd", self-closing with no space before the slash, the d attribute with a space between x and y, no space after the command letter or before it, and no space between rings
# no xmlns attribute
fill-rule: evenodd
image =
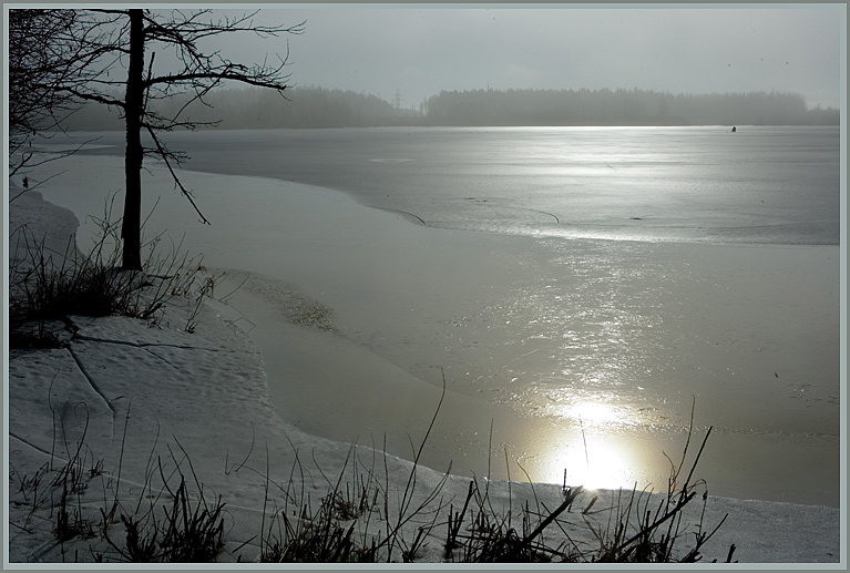
<svg viewBox="0 0 850 573"><path fill-rule="evenodd" d="M513 507L510 495L508 508L500 507L492 497L492 482L485 480L482 485L478 479L470 480L465 497L447 500L448 472L421 487L418 456L406 487L395 489L387 456L380 463L381 453L371 449L372 458L365 463L355 446L335 478L316 464L327 487L320 499L313 500L306 493L306 469L296 451L288 481L275 485L277 494L269 491L272 481L266 482L264 498L273 508L264 502L255 536L258 561L417 562L429 544L437 543L440 551L430 551L426 559L439 555L448 563L695 563L725 521L704 529L700 519L696 532L693 523L683 521L686 507L700 499L705 505L707 500L707 493L698 494L699 482L692 479L709 433L710 429L686 474L682 463L672 464L669 489L660 498L621 490L610 501L597 503L596 498L582 501L585 492L581 487L564 485L554 508L537 499L533 484L532 498L526 497L520 507ZM211 563L219 559L226 541L226 504L221 495L206 499L185 451L176 456L168 448L166 459L149 462L144 488L130 503L121 500L119 467L116 477L104 481L112 485L104 485L103 509L95 519L84 503L84 493L104 472L102 462L86 453L84 438L83 433L74 448L64 448L69 454L64 463L47 464L32 475L10 471L19 493L31 504L25 520L12 526L29 531L32 520L51 519L63 559L69 542L76 548L90 543L88 553L78 549L73 561ZM421 451L420 447L418 453ZM106 489L113 492L112 500L106 499ZM238 551L228 552L228 559ZM734 551L731 545L727 562Z"/></svg>

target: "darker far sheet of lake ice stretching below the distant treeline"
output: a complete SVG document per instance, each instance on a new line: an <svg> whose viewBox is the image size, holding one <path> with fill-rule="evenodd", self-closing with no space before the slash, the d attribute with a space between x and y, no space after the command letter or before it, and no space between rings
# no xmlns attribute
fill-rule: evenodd
<svg viewBox="0 0 850 573"><path fill-rule="evenodd" d="M92 153L114 153L120 133ZM428 226L838 245L838 127L472 127L168 134L185 167L351 193Z"/></svg>

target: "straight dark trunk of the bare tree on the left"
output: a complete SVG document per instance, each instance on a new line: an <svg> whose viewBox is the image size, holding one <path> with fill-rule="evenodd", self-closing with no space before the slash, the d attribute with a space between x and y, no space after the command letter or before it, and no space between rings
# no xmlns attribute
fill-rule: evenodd
<svg viewBox="0 0 850 573"><path fill-rule="evenodd" d="M144 20L142 10L130 10L130 63L127 91L124 100L126 150L124 172L124 218L121 237L124 241L122 267L142 270L142 102L144 79Z"/></svg>

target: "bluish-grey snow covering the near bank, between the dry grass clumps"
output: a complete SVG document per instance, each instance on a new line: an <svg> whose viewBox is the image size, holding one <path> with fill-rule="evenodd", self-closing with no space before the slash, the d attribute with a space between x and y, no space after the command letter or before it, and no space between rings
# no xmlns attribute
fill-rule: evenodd
<svg viewBox="0 0 850 573"><path fill-rule="evenodd" d="M14 183L7 187L7 201L21 191ZM37 191L7 204L7 237L25 225L31 236L43 236L52 248L66 248L76 228L73 214L44 202ZM18 247L9 245L12 252ZM115 552L100 534L104 516L116 500L119 512L127 514L166 503L167 495L161 495L163 478L174 490L178 483L175 470L186 478L195 495L203 491L207 502L221 495L225 549L218 561L245 567L259 560L269 524L286 504L285 492L305 502L309 498L317 507L341 472L346 480L356 473L372 473L388 484L392 519L397 515L392 507L411 472L416 474L416 500L424 499L441 482L442 472L383 454L380 444L373 450L370 443L359 443L352 453L357 437L350 442L330 441L297 429L281 418L269 398L264 357L246 334L252 324L238 308L222 300L209 299L197 315L194 308L194 299L177 297L155 324L116 316L70 317L76 334L68 348L8 350L6 337L3 452L9 480L4 569L90 562L99 554L114 562ZM192 331L187 325L194 325ZM315 330L310 325L293 327L291 339L281 340L281 347L295 345ZM411 446L418 447L422 439L423 434L411 436ZM352 454L359 464L357 472L352 471ZM79 460L70 465L79 471L81 487L69 494L69 507L80 521L89 520L94 534L60 542L52 531L62 491L51 489L49 481L73 459ZM42 475L45 468L53 472ZM494 508L511 508L518 524L519 508L526 502L532 508L543 503L553 509L562 501L556 484L488 482L481 477L479 485L488 487ZM463 503L468 487L469 478L448 478L440 491L437 526L416 561L441 561L444 516L450 504L457 511ZM595 508L600 509L611 507L618 494L583 492L564 514L571 538L591 540L581 509L594 495L598 495ZM382 511L373 513L366 534L379 534L386 528ZM697 495L685 511L680 531L688 534L680 548L690 546L690 533L698 531L700 520L703 529L710 530L726 514L723 526L703 548L706 562L725 561L734 543L734 559L739 563L829 563L826 566L846 569L844 507L709 495L704 508ZM606 515L598 514L602 524ZM408 542L419 525L433 519L426 512L409 523L404 528ZM362 526L358 520L358 528ZM557 545L560 533L554 526L551 530L547 540ZM109 532L114 540L124 539L117 513ZM401 560L399 554L393 559Z"/></svg>

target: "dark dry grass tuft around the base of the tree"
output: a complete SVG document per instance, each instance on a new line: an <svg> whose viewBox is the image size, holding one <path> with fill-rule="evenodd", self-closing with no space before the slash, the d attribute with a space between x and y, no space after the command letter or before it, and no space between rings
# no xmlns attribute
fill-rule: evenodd
<svg viewBox="0 0 850 573"><path fill-rule="evenodd" d="M58 348L75 332L72 316L121 315L155 325L164 305L175 298L188 300L186 331L194 331L204 300L213 295L221 276L209 276L199 258L190 257L178 244L163 248L157 236L145 243L142 272L121 268L120 222L92 217L98 239L89 254L69 241L63 252L45 246L43 237L18 228L9 258L9 310L11 348Z"/></svg>

